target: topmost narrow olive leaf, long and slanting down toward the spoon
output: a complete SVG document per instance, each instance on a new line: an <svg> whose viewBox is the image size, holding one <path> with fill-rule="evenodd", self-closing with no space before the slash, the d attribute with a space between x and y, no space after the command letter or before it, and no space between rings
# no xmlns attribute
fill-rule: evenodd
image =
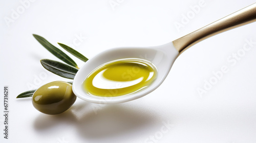
<svg viewBox="0 0 256 143"><path fill-rule="evenodd" d="M44 46L49 52L51 52L54 56L62 60L63 62L66 62L69 65L72 65L74 67L78 67L77 64L64 52L59 50L56 46L52 45L50 42L48 42L45 38L33 34L35 39L42 45Z"/></svg>

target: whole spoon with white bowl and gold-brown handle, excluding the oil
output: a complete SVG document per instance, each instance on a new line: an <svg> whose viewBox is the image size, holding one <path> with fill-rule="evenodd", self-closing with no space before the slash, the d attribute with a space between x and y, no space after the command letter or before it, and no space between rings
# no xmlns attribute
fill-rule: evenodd
<svg viewBox="0 0 256 143"><path fill-rule="evenodd" d="M254 21L256 21L256 3L164 45L152 47L118 47L104 51L88 60L78 70L73 81L73 92L82 100L99 104L115 104L141 98L160 86L168 75L176 58L188 47L218 33ZM91 96L86 93L82 83L91 71L106 62L123 58L140 58L151 61L158 69L156 80L143 90L125 96L106 98Z"/></svg>

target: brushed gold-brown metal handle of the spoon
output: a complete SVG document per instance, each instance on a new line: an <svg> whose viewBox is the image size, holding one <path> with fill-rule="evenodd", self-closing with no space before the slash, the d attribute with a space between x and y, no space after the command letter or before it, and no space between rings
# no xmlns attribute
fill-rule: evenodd
<svg viewBox="0 0 256 143"><path fill-rule="evenodd" d="M173 44L177 51L181 53L206 38L254 21L256 21L256 3L176 39Z"/></svg>

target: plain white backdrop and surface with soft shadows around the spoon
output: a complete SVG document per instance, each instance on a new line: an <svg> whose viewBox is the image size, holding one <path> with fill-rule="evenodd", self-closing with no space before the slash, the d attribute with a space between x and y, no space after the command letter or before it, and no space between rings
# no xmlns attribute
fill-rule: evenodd
<svg viewBox="0 0 256 143"><path fill-rule="evenodd" d="M179 29L175 23L182 24L182 15L191 12L199 0L23 2L0 2L0 142L256 141L256 44L236 63L227 60L242 50L246 39L256 41L256 23L194 45L178 57L158 89L135 101L97 105L77 99L66 112L46 115L33 107L31 98L15 99L32 87L56 80L71 81L40 65L40 59L58 59L32 34L45 37L57 47L57 42L71 45L75 41L73 48L90 59L113 47L173 41L253 0L205 0L204 6ZM113 7L110 2L118 5ZM12 17L14 11L19 12L16 17ZM8 18L12 19L9 23ZM213 72L222 66L228 72L200 96L197 89L204 89L206 81L215 77ZM3 134L5 85L9 86L9 139Z"/></svg>

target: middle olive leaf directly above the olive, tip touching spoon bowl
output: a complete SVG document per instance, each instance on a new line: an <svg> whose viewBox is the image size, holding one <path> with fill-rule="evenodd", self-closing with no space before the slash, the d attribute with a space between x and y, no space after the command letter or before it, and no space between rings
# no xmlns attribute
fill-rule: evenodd
<svg viewBox="0 0 256 143"><path fill-rule="evenodd" d="M63 78L74 79L78 71L78 69L73 66L54 60L42 59L40 62L47 70Z"/></svg>

